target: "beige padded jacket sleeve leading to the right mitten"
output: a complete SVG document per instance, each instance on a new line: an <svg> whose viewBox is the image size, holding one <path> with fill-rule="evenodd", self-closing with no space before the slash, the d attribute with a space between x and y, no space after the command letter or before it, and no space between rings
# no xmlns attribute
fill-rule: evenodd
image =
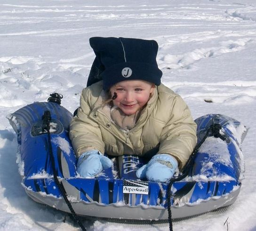
<svg viewBox="0 0 256 231"><path fill-rule="evenodd" d="M191 112L180 96L174 97L170 105L170 117L160 135L158 153L174 156L182 169L191 155L196 142L196 123Z"/></svg>

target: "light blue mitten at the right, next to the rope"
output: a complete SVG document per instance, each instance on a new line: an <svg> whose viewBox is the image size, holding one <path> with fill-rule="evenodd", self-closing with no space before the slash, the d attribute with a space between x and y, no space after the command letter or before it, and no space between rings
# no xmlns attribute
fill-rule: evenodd
<svg viewBox="0 0 256 231"><path fill-rule="evenodd" d="M136 176L148 181L167 182L174 175L177 166L177 160L171 155L157 154L136 171Z"/></svg>

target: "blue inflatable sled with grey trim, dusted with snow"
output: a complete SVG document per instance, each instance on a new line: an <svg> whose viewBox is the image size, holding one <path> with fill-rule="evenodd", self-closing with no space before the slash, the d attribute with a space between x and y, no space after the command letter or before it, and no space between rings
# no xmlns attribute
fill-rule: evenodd
<svg viewBox="0 0 256 231"><path fill-rule="evenodd" d="M59 105L57 98L50 100L55 102L27 105L8 115L17 134L17 162L26 193L36 202L70 212L57 179L77 215L168 220L168 183L136 179L136 170L145 163L144 159L124 155L112 158L113 167L95 178L78 175L68 135L72 114ZM187 166L186 177L172 184L169 201L173 219L231 205L240 192L244 172L240 143L246 128L219 114L195 121L198 143L205 141Z"/></svg>

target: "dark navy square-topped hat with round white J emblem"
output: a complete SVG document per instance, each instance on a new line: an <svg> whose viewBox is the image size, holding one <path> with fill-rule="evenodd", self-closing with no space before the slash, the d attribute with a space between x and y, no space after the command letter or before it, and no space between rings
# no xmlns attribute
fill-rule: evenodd
<svg viewBox="0 0 256 231"><path fill-rule="evenodd" d="M155 40L93 37L90 45L96 54L90 76L97 70L104 90L124 80L145 80L160 85L162 72L156 62Z"/></svg>

